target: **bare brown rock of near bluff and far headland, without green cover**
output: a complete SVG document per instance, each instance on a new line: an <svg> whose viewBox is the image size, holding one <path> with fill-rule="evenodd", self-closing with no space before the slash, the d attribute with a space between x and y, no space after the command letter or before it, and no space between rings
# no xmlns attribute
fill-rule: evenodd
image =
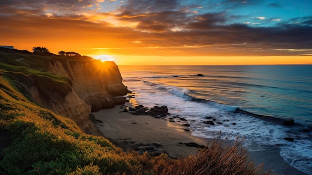
<svg viewBox="0 0 312 175"><path fill-rule="evenodd" d="M71 89L66 94L60 94L53 91L42 92L38 90L38 85L34 85L29 89L33 100L72 119L85 133L102 135L89 118L91 111L114 108L115 105L126 102L126 98L118 97L126 95L128 90L122 83L118 66L112 61L56 60L49 63L47 71L68 77L71 80Z"/></svg>

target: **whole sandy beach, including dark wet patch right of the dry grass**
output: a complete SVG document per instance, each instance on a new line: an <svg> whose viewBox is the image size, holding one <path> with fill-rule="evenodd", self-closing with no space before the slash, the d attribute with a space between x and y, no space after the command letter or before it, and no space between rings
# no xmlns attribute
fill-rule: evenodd
<svg viewBox="0 0 312 175"><path fill-rule="evenodd" d="M129 148L129 142L157 143L171 158L177 159L193 155L198 150L195 147L187 147L184 143L194 142L206 146L212 141L212 139L192 136L191 129L184 131L189 129L182 125L187 123L186 121L176 118L175 122L169 122L151 116L132 115L130 112L122 112L126 106L132 104L126 103L123 107L120 105L113 109L92 113L97 120L97 127L104 136L124 150ZM268 147L266 150L250 152L250 157L256 165L265 163L264 170L272 170L272 175L306 175L286 163L279 156L277 148Z"/></svg>

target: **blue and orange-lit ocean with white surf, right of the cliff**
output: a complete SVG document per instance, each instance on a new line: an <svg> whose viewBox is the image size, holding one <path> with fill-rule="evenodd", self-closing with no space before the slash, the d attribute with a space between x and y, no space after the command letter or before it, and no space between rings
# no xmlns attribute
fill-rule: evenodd
<svg viewBox="0 0 312 175"><path fill-rule="evenodd" d="M222 139L239 136L247 145L259 145L250 151L278 147L288 164L312 175L312 65L120 65L119 69L139 104L166 105L172 116L187 119L193 136L214 138L221 131ZM206 117L222 124L207 125L203 121L211 119ZM280 125L282 119L294 119L295 126Z"/></svg>

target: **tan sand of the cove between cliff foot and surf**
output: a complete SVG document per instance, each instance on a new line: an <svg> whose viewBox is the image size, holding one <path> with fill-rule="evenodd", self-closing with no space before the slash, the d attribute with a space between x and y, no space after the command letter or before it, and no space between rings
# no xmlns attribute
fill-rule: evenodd
<svg viewBox="0 0 312 175"><path fill-rule="evenodd" d="M131 104L126 104L128 106ZM97 127L111 142L118 144L124 141L136 141L145 144L160 144L172 158L187 157L196 153L196 147L187 147L181 143L196 143L206 146L211 139L191 136L187 126L181 122L169 122L151 116L132 115L130 112L121 112L120 106L92 113L97 122ZM99 121L102 121L99 122ZM180 143L180 144L179 144ZM118 144L122 146L122 144ZM127 149L127 148L125 148Z"/></svg>

